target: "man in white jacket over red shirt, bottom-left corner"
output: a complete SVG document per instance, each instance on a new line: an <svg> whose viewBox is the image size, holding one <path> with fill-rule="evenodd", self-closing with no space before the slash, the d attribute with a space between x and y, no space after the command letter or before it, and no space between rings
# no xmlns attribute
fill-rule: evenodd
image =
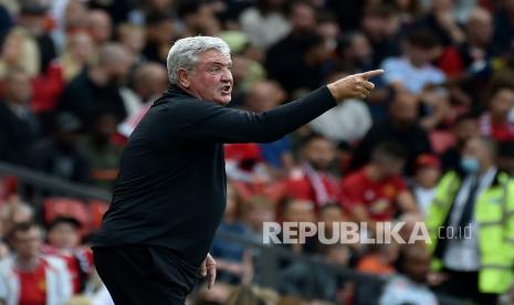
<svg viewBox="0 0 514 305"><path fill-rule="evenodd" d="M42 255L42 229L31 222L19 223L10 240L14 255L0 263L3 304L65 304L72 296L70 275L63 261Z"/></svg>

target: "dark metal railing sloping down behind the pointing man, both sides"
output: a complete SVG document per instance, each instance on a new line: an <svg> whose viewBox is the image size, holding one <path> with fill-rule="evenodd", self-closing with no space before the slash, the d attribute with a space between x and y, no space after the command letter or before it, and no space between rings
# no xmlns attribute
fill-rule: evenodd
<svg viewBox="0 0 514 305"><path fill-rule="evenodd" d="M52 177L45 173L41 173L24 167L10 165L0 161L0 178L6 176L12 176L19 179L24 185L30 186L31 188L35 189L35 202L34 204L42 202L42 193L44 192L52 192L69 196L72 198L80 198L80 199L99 199L104 201L109 201L112 194L103 189L92 188L87 186L80 186L76 183L69 182L66 180ZM356 272L353 269L344 267L339 265L328 264L317 257L307 256L303 254L293 253L284 248L276 246L276 245L269 245L256 242L254 240L250 240L248 238L243 238L241 235L229 233L229 232L219 232L217 234L218 238L241 244L246 249L252 249L259 251L258 260L260 262L259 266L262 267L260 273L260 285L271 288L276 288L279 283L279 265L281 261L289 261L295 263L304 263L313 269L323 269L327 275L337 275L344 278L348 278L357 285L370 285L375 287L373 291L367 291L366 293L375 294L375 296L379 295L379 291L376 288L380 288L384 283L386 282L386 277L379 277L376 275L369 275ZM310 286L310 285L308 285ZM307 287L308 287L307 286ZM304 297L313 297L313 292L307 288L304 292ZM437 295L441 305L470 305L472 303L462 302L460 299L444 296L444 295ZM366 302L361 299L357 304L376 304L376 298L374 301Z"/></svg>

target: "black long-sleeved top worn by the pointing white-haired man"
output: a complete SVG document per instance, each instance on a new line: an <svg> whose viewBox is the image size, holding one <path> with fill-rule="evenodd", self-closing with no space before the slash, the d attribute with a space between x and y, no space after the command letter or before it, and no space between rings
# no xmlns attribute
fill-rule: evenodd
<svg viewBox="0 0 514 305"><path fill-rule="evenodd" d="M262 114L168 90L128 140L94 246L165 246L198 267L225 207L222 144L274 141L335 105L325 86Z"/></svg>

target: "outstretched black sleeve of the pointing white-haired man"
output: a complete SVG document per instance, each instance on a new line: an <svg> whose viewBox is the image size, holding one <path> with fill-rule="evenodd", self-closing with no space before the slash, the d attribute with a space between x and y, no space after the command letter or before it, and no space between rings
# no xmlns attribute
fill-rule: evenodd
<svg viewBox="0 0 514 305"><path fill-rule="evenodd" d="M185 101L174 109L174 135L219 143L271 143L334 106L336 101L326 86L262 114Z"/></svg>

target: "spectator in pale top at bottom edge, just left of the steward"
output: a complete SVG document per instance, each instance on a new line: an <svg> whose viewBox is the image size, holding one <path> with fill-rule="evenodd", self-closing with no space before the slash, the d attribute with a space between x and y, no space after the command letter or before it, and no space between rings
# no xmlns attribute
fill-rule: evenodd
<svg viewBox="0 0 514 305"><path fill-rule="evenodd" d="M380 305L437 305L439 301L428 288L430 255L423 248L406 246L398 260L400 273L394 276L384 288Z"/></svg>

